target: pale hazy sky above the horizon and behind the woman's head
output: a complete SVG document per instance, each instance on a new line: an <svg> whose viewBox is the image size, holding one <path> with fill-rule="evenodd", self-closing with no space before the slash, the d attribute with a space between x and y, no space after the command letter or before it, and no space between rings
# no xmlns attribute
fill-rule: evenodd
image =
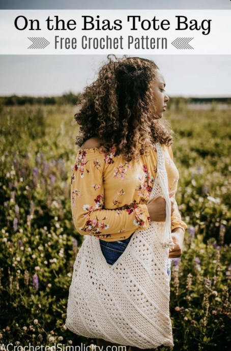
<svg viewBox="0 0 231 351"><path fill-rule="evenodd" d="M230 0L0 0L0 9L231 9ZM120 55L118 55L120 56ZM140 55L160 68L169 96L231 97L230 55ZM106 55L0 55L0 96L79 93Z"/></svg>

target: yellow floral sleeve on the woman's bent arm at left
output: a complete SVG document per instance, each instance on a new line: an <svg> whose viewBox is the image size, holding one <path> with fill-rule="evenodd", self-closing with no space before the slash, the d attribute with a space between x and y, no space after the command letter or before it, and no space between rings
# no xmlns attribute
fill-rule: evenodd
<svg viewBox="0 0 231 351"><path fill-rule="evenodd" d="M128 237L136 229L146 229L150 221L146 204L133 202L121 208L104 208L104 165L104 156L97 149L89 153L80 150L76 157L71 180L71 209L76 230L81 235L110 238L116 233Z"/></svg>

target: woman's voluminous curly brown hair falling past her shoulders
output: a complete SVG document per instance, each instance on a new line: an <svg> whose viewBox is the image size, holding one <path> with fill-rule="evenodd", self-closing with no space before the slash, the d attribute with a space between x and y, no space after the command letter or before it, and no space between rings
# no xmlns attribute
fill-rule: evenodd
<svg viewBox="0 0 231 351"><path fill-rule="evenodd" d="M155 142L170 145L172 130L166 120L155 119L151 82L157 65L146 58L108 55L98 78L79 96L75 120L80 126L76 145L98 137L104 151L128 160L148 154ZM114 58L114 60L113 60Z"/></svg>

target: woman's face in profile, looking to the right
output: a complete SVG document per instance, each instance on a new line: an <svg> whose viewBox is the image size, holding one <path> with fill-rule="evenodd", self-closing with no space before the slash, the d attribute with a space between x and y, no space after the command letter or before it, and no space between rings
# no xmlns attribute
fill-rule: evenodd
<svg viewBox="0 0 231 351"><path fill-rule="evenodd" d="M159 70L155 72L155 78L151 83L153 95L154 95L154 103L156 107L155 118L159 119L163 117L163 112L166 110L166 104L169 101L169 97L165 93L165 81L164 77L160 73Z"/></svg>

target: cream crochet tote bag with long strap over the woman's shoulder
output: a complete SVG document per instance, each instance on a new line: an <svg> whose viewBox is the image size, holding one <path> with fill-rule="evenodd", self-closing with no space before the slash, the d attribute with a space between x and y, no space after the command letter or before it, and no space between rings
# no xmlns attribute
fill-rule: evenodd
<svg viewBox="0 0 231 351"><path fill-rule="evenodd" d="M77 335L121 345L174 346L169 317L167 260L171 240L170 199L162 147L150 199L166 200L166 221L136 230L118 260L109 265L99 239L88 235L73 267L66 327Z"/></svg>

